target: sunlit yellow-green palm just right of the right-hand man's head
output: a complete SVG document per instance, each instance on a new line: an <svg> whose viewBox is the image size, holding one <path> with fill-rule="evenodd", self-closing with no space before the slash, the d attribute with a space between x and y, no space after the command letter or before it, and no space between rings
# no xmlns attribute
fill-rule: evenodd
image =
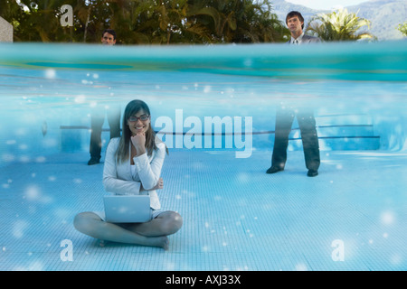
<svg viewBox="0 0 407 289"><path fill-rule="evenodd" d="M375 39L374 35L359 30L367 26L370 21L348 13L347 9L339 9L328 14L317 14L308 23L307 32L321 38L323 41L356 41L361 39Z"/></svg>

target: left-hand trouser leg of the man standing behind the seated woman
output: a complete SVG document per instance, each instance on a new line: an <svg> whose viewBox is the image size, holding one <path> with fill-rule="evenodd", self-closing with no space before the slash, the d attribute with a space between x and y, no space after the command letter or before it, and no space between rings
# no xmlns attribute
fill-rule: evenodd
<svg viewBox="0 0 407 289"><path fill-rule="evenodd" d="M99 163L101 152L101 132L105 120L105 108L94 107L90 116L90 161L89 165Z"/></svg>

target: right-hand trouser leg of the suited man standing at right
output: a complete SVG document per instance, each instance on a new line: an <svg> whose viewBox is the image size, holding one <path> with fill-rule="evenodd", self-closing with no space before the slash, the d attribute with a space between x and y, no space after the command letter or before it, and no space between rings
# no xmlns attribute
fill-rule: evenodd
<svg viewBox="0 0 407 289"><path fill-rule="evenodd" d="M320 164L318 135L316 121L312 110L298 112L298 126L301 131L304 157L308 169L308 176L317 176Z"/></svg>

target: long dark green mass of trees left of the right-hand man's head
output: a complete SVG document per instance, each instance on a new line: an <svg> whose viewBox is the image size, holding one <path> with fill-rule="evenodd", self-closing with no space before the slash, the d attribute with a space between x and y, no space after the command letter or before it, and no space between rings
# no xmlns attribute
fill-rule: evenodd
<svg viewBox="0 0 407 289"><path fill-rule="evenodd" d="M61 6L73 8L62 27ZM269 0L2 0L14 42L100 42L111 28L123 44L281 42L289 31Z"/></svg>

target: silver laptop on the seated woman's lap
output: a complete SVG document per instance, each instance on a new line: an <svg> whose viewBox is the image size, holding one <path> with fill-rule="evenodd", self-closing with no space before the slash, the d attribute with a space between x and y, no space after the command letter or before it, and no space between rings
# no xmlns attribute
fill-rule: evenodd
<svg viewBox="0 0 407 289"><path fill-rule="evenodd" d="M104 196L106 221L110 223L143 223L151 219L150 196Z"/></svg>

